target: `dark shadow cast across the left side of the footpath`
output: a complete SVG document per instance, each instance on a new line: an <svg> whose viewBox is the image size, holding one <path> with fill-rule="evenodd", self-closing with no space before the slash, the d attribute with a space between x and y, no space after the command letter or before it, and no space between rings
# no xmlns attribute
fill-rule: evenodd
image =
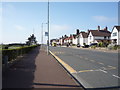
<svg viewBox="0 0 120 90"><path fill-rule="evenodd" d="M35 59L39 54L40 47L35 48L16 64L2 73L2 88L32 88Z"/></svg>

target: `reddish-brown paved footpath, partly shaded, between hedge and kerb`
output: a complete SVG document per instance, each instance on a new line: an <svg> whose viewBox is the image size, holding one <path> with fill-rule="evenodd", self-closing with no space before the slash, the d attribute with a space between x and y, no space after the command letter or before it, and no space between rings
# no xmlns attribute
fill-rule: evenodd
<svg viewBox="0 0 120 90"><path fill-rule="evenodd" d="M52 55L40 47L3 71L2 88L74 88L84 90Z"/></svg>

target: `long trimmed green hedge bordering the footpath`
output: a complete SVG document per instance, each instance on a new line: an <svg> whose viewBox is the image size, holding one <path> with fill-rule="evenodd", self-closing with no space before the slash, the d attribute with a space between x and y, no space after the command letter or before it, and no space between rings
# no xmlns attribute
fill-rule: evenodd
<svg viewBox="0 0 120 90"><path fill-rule="evenodd" d="M8 57L8 62L9 62L16 59L17 56L21 56L25 53L28 53L37 46L38 45L32 45L32 46L22 46L16 49L2 49L2 64L4 64L5 56Z"/></svg>

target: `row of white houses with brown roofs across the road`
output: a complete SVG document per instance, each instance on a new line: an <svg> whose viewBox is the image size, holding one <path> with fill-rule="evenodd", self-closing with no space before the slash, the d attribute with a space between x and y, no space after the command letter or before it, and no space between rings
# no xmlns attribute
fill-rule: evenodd
<svg viewBox="0 0 120 90"><path fill-rule="evenodd" d="M100 26L96 30L88 30L87 32L76 30L75 34L70 36L64 35L59 39L52 39L51 42L56 42L59 45L90 45L91 43L108 42L120 45L120 26L114 26L112 31L108 27L103 29Z"/></svg>

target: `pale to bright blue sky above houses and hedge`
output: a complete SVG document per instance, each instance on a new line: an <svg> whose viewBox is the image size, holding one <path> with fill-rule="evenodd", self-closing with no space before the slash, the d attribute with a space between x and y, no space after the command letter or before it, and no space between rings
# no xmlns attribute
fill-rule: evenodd
<svg viewBox="0 0 120 90"><path fill-rule="evenodd" d="M76 29L95 30L98 25L111 31L118 25L118 2L50 2L49 15L50 39L75 34ZM47 31L47 2L3 2L0 17L0 43L25 43L33 33L41 43L42 23Z"/></svg>

